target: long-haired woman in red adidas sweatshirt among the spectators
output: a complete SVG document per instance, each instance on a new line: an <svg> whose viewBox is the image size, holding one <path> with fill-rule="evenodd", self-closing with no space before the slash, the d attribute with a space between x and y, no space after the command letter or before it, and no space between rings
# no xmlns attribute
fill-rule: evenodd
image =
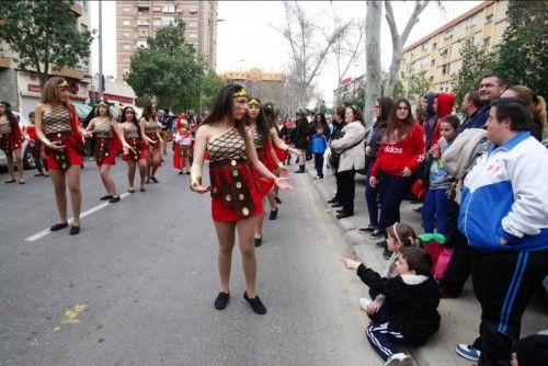
<svg viewBox="0 0 548 366"><path fill-rule="evenodd" d="M372 237L386 235L385 229L400 220L400 204L409 193L414 173L424 158L424 130L413 122L407 99L396 101L380 141L369 184L379 185L380 218Z"/></svg>

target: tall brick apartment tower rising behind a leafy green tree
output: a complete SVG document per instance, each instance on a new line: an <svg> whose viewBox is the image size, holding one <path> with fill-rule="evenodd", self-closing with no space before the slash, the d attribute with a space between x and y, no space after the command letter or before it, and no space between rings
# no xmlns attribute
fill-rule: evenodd
<svg viewBox="0 0 548 366"><path fill-rule="evenodd" d="M215 70L217 59L217 1L117 0L116 72L122 79L129 72L132 56L147 46L155 32L181 18L184 38L205 56Z"/></svg>

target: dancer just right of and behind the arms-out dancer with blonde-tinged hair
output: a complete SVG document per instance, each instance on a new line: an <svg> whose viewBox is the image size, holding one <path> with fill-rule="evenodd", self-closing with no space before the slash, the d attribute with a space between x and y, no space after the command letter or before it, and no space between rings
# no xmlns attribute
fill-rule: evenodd
<svg viewBox="0 0 548 366"><path fill-rule="evenodd" d="M135 110L130 106L126 106L122 111L123 122L119 124L119 128L124 131L124 138L127 144L133 148L133 150L124 151L124 157L122 158L127 163L127 181L129 182L129 187L127 192L135 192L135 171L137 165L139 165L140 184L139 191L145 192L145 176L147 176L147 152L145 151L145 131L139 125L137 119L137 114Z"/></svg>

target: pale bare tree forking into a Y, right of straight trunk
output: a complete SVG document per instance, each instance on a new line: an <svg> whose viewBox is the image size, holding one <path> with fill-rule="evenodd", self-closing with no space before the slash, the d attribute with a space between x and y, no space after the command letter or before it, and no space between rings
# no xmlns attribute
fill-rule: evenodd
<svg viewBox="0 0 548 366"><path fill-rule="evenodd" d="M409 37L409 33L411 33L411 30L413 28L415 23L419 22L419 15L422 13L422 11L426 8L427 4L429 0L424 1L418 0L414 2L413 12L409 18L408 23L403 28L403 32L401 33L401 35L399 35L398 27L396 25L396 19L393 16L391 1L385 1L386 21L388 22L388 26L390 28L390 35L392 37L392 61L390 62L390 73L388 77L388 83L384 90L385 95L392 95L393 93L393 88L396 85L396 81L398 80L398 73L400 70L403 45L406 44L406 41Z"/></svg>

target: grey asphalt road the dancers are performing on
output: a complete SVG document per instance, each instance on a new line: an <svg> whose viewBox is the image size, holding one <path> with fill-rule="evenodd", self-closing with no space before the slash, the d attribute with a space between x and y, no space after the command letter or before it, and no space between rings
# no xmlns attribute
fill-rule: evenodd
<svg viewBox="0 0 548 366"><path fill-rule="evenodd" d="M365 286L339 261L346 244L307 174L292 176L296 190L265 221L258 294L269 313L258 316L242 298L237 247L231 301L214 308L209 197L168 160L159 184L91 213L76 237L25 240L56 221L52 183L30 171L25 185L0 183L0 365L381 364L357 308ZM104 194L85 167L82 211ZM113 175L124 192L122 161Z"/></svg>

